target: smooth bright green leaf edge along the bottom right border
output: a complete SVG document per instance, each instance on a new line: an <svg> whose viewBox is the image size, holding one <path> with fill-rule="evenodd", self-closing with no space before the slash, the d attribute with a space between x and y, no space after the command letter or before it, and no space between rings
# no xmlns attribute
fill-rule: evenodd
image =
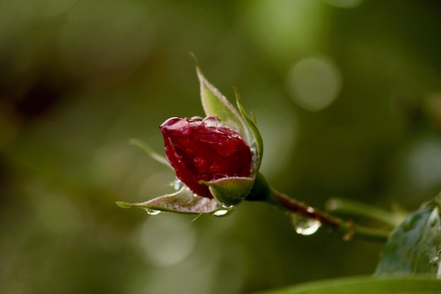
<svg viewBox="0 0 441 294"><path fill-rule="evenodd" d="M439 294L440 292L440 280L406 276L400 278L337 278L254 294Z"/></svg>

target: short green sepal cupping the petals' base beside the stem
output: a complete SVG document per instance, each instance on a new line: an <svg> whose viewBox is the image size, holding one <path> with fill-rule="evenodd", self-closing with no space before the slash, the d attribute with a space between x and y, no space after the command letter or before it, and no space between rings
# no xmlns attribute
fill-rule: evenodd
<svg viewBox="0 0 441 294"><path fill-rule="evenodd" d="M209 186L213 197L218 200L223 207L235 206L242 202L253 188L254 178L228 177L218 180L199 180Z"/></svg>

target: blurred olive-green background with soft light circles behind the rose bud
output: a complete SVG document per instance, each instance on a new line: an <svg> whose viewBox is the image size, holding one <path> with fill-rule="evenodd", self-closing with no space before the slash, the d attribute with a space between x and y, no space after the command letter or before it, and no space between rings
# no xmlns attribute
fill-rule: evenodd
<svg viewBox="0 0 441 294"><path fill-rule="evenodd" d="M261 171L408 211L441 190L441 4L0 0L0 292L248 293L371 274L382 245L244 202L225 217L120 209L171 192L171 116L202 116L187 51L258 118Z"/></svg>

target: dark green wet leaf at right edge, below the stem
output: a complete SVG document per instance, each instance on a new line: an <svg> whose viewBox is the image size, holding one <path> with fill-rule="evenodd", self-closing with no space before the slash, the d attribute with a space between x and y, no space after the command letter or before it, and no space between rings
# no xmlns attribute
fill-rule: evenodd
<svg viewBox="0 0 441 294"><path fill-rule="evenodd" d="M440 276L441 225L438 208L414 212L390 234L375 275Z"/></svg>

